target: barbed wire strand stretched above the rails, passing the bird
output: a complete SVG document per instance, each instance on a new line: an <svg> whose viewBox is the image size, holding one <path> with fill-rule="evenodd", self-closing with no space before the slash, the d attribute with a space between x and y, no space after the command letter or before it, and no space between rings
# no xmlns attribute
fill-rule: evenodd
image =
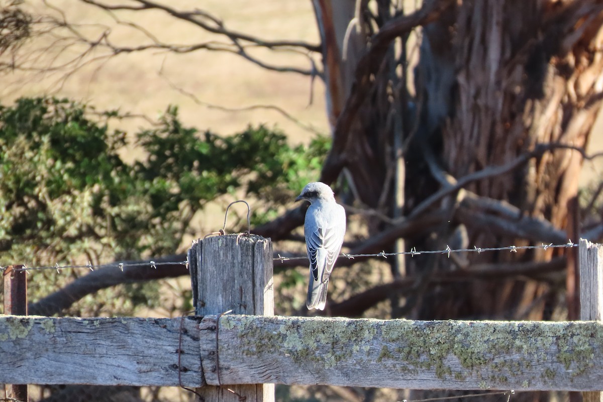
<svg viewBox="0 0 603 402"><path fill-rule="evenodd" d="M578 247L577 243L573 243L572 240L570 239L567 243L564 244L542 244L542 245L533 245L533 246L507 246L507 247L477 247L474 246L473 248L450 248L449 246L446 246L446 248L444 248L444 250L423 250L423 251L417 251L416 248L412 248L410 251L398 251L395 253L385 253L385 251L381 251L380 253L374 253L374 254L346 254L346 253L342 253L339 254L338 258L347 258L350 260L355 259L356 257L359 258L368 258L368 257L380 257L380 258L385 258L387 259L387 257L392 257L392 256L420 256L421 254L446 254L447 257L450 257L450 254L452 253L486 253L488 251L505 251L508 250L511 253L517 253L517 251L519 250L534 250L534 249L541 249L541 250L547 250L549 248L572 248L572 247ZM273 260L274 261L280 261L280 262L284 262L284 261L289 261L289 260L306 260L308 259L308 257L306 256L299 256L299 257L285 257L285 256L281 256L280 254L277 254L277 257L275 257ZM130 263L126 263L126 262L113 262L113 263L107 263L107 264L100 264L100 265L93 265L92 263L88 262L86 265L58 265L58 263L56 263L55 265L48 265L48 266L27 266L27 265L21 265L19 266L19 268L16 268L16 266L13 265L13 271L16 272L20 272L20 271L25 271L27 273L30 273L30 271L43 271L46 269L54 269L55 271L57 271L59 274L61 273L60 271L62 271L63 269L90 269L90 271L95 271L97 269L104 269L104 268L119 268L121 269L121 271L124 271L124 268L128 268L131 266L145 266L148 265L148 268L154 268L157 269L158 266L162 266L162 265L185 265L186 269L188 269L188 265L189 262L188 260L185 261L172 261L172 262L154 262L154 261L148 261L148 262L130 262ZM0 272L4 272L6 271L6 269L8 268L8 266L0 266Z"/></svg>

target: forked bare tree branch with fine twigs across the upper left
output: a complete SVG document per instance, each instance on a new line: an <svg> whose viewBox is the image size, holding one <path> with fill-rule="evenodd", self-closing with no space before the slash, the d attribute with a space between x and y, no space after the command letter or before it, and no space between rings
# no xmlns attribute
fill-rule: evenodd
<svg viewBox="0 0 603 402"><path fill-rule="evenodd" d="M14 48L13 57L8 60L0 61L0 68L17 69L25 72L36 72L39 75L48 73L63 72L49 87L51 92L60 89L66 81L85 66L98 61L106 62L116 55L130 54L144 51L164 51L172 54L187 54L199 50L229 52L245 58L251 63L276 72L294 72L296 74L306 75L312 78L321 77L321 72L315 65L312 54L320 51L320 45L311 45L303 41L295 40L264 40L255 36L228 30L224 23L217 17L212 16L206 11L190 10L180 11L169 5L163 5L158 2L136 1L136 4L105 4L96 0L81 0L93 7L104 10L115 20L115 24L131 28L144 35L147 43L138 46L121 45L112 40L112 28L101 24L77 24L67 19L66 14L59 7L51 2L44 0L46 7L53 10L55 15L42 16L36 21L31 22L29 37L51 38L49 45L43 46L43 49L28 49L27 52L17 52ZM116 11L137 11L157 10L166 13L170 17L189 22L196 27L207 31L208 33L221 36L226 39L225 42L219 40L207 40L206 42L179 44L165 43L154 36L142 25L136 22L122 20ZM28 25L28 26L29 26ZM0 23L1 28L1 23ZM94 33L89 32L89 28L94 28ZM100 30L101 32L98 32ZM1 46L0 46L1 48ZM279 66L265 62L256 57L252 48L267 48L273 51L288 51L301 54L308 58L310 68L298 68L297 66ZM0 49L1 50L1 49ZM74 55L75 53L75 55ZM2 51L0 51L2 55ZM37 77L30 77L31 80L39 80Z"/></svg>

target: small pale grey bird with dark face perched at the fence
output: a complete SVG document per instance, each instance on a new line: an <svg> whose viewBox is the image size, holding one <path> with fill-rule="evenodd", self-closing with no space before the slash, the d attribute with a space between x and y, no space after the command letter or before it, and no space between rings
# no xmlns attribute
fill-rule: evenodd
<svg viewBox="0 0 603 402"><path fill-rule="evenodd" d="M295 201L301 199L310 202L304 224L306 250L310 260L306 307L308 310L324 310L329 277L346 234L346 211L335 202L331 187L318 181L306 184Z"/></svg>

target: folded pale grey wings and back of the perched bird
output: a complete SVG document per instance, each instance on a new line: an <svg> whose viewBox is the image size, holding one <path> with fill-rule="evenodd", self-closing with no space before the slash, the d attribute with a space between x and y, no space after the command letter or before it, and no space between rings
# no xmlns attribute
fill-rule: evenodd
<svg viewBox="0 0 603 402"><path fill-rule="evenodd" d="M324 219L324 222L316 219L309 229L306 231L306 248L312 277L318 281L320 276L320 281L324 283L329 280L335 260L341 251L341 243L346 233L345 215L343 219Z"/></svg>

